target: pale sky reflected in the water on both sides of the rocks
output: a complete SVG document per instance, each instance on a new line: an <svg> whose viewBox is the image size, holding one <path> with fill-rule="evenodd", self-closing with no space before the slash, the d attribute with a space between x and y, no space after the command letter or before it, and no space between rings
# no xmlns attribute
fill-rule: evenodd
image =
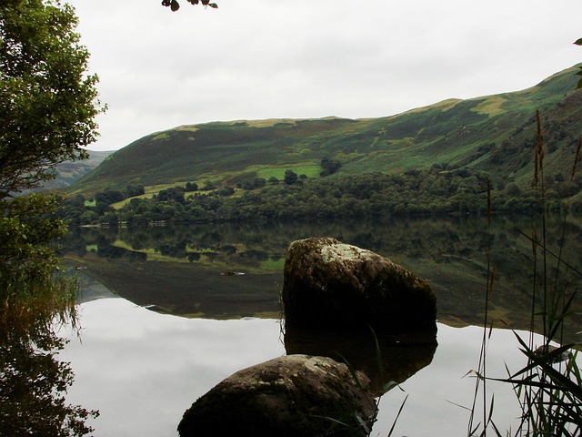
<svg viewBox="0 0 582 437"><path fill-rule="evenodd" d="M146 310L123 299L86 302L82 341L61 358L71 361L75 384L67 398L101 412L91 422L98 437L176 437L176 426L193 401L227 376L286 353L272 319L186 319ZM463 377L477 366L482 330L438 324L438 347L429 366L389 391L380 402L372 435L386 435L403 398L408 401L393 435L464 435L475 381ZM488 351L491 376L520 369L524 356L511 331L493 330ZM520 410L507 384L491 385L500 429Z"/></svg>

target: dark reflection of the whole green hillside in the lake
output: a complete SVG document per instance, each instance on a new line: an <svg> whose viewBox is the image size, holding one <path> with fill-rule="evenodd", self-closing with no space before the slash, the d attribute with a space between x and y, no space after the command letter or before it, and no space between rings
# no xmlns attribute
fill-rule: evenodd
<svg viewBox="0 0 582 437"><path fill-rule="evenodd" d="M556 252L561 219L547 222ZM487 250L496 266L490 311L497 326L529 323L532 245L529 219L389 219L382 223L216 224L150 229L74 229L65 255L87 274L140 305L210 318L278 313L278 291L288 244L327 236L370 249L428 279L437 293L438 319L451 325L482 323ZM580 265L582 228L567 222L564 259ZM89 251L87 251L87 249ZM550 259L548 266L555 269ZM539 268L538 268L539 269ZM567 269L562 266L562 273ZM245 275L226 276L227 272ZM567 278L567 272L566 276ZM576 302L579 307L579 302ZM579 316L571 318L579 326Z"/></svg>

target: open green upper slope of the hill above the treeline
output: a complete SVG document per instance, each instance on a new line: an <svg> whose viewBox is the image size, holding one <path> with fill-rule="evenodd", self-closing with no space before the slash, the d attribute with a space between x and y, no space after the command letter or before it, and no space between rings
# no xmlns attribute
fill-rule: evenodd
<svg viewBox="0 0 582 437"><path fill-rule="evenodd" d="M577 66L525 90L449 99L392 117L271 119L181 126L137 139L77 180L74 193L248 178L281 178L286 169L317 178L322 158L341 162L331 178L404 173L444 165L490 174L494 183L530 183L536 111L547 169L566 178L582 135Z"/></svg>

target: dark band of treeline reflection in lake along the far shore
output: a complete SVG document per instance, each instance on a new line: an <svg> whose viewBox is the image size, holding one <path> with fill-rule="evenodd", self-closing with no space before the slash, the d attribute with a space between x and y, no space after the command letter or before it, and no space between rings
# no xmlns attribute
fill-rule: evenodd
<svg viewBox="0 0 582 437"><path fill-rule="evenodd" d="M559 225L559 219L550 222L547 229L548 241L559 240ZM389 258L433 259L443 263L458 258L484 259L486 250L491 247L493 262L504 264L508 259L515 260L516 254L512 252L521 250L529 255L530 244L519 230L529 234L530 229L530 219L509 217L494 218L490 234L487 233L487 219L478 217L386 219L382 222L344 220L316 223L206 224L86 231L76 229L65 240L65 246L67 249L85 249L88 245L97 245L100 254L115 257L116 253L111 252L110 247L115 240L121 240L135 251L154 249L172 258L186 259L192 253L203 252L235 255L252 251L246 257L265 259L266 254L270 259L281 259L285 257L289 243L295 239L334 237ZM581 235L579 224L568 221L568 239L579 240ZM262 252L262 255L257 256L258 252ZM569 255L579 260L576 250ZM523 261L527 262L527 257Z"/></svg>

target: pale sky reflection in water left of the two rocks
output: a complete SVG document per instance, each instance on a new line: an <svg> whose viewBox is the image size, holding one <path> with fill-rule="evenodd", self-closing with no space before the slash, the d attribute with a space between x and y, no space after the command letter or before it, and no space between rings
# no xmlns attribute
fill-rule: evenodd
<svg viewBox="0 0 582 437"><path fill-rule="evenodd" d="M123 299L81 306L83 331L68 398L98 408L98 437L176 437L186 408L235 371L285 354L272 319L208 320L159 314Z"/></svg>

